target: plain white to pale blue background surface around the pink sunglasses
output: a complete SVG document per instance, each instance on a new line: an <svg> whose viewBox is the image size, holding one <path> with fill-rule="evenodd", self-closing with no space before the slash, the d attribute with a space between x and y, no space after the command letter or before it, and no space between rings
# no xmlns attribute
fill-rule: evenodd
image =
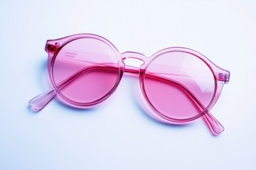
<svg viewBox="0 0 256 170"><path fill-rule="evenodd" d="M1 1L0 169L256 169L256 1ZM157 123L122 79L91 110L53 100L39 113L28 101L48 90L46 40L95 33L120 52L150 56L189 47L231 72L213 115Z"/></svg>

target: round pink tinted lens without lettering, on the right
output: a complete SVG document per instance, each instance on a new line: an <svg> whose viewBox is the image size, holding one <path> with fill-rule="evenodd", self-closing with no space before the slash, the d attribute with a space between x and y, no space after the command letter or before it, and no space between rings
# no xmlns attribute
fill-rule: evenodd
<svg viewBox="0 0 256 170"><path fill-rule="evenodd" d="M215 79L208 65L196 55L167 52L146 68L144 91L157 113L170 119L191 119L209 106Z"/></svg>

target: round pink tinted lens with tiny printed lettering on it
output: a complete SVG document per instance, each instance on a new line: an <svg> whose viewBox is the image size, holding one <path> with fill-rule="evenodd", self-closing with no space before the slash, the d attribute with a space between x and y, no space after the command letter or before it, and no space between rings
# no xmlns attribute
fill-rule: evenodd
<svg viewBox="0 0 256 170"><path fill-rule="evenodd" d="M105 42L80 38L60 49L52 75L61 98L74 105L90 106L113 91L119 77L119 62Z"/></svg>

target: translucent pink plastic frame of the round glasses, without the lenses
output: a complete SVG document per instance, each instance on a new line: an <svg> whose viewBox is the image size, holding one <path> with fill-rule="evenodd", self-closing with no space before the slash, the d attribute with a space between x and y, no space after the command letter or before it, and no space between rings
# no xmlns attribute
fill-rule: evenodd
<svg viewBox="0 0 256 170"><path fill-rule="evenodd" d="M102 98L100 98L99 100L91 102L91 103L78 103L75 101L70 101L68 98L65 98L65 96L63 96L59 91L59 89L60 89L59 85L57 86L53 79L53 63L55 61L55 57L57 56L58 52L60 51L60 49L63 46L68 44L68 42L71 42L73 40L78 40L80 38L92 38L92 39L100 40L100 41L104 42L109 47L111 47L111 49L114 51L115 55L117 55L118 60L119 60L118 68L112 67L110 65L107 67L95 68L95 69L118 69L119 77L117 78L116 84L114 84L114 87L107 95L102 96ZM159 52L156 52L154 55L151 55L151 57L146 57L139 52L122 52L121 53L117 50L117 48L109 40L102 38L99 35L94 35L94 34L77 34L77 35L70 35L65 38L60 38L60 39L56 39L56 40L47 40L45 50L46 50L46 52L48 52L48 76L50 79L50 84L52 85L53 89L50 89L49 91L46 91L45 93L38 95L35 98L31 99L31 101L29 101L29 105L35 111L41 111L41 109L43 109L56 95L58 95L62 101L64 101L65 103L67 103L70 106L75 106L78 108L95 106L98 103L105 101L105 99L107 99L109 96L111 96L112 93L114 93L115 89L117 89L117 86L122 79L124 72L128 72L131 74L139 74L139 81L140 81L140 86L142 89L142 94L143 94L146 102L149 104L151 110L154 111L154 113L156 113L156 116L153 116L154 118L156 118L156 120L159 120L159 121L162 121L165 123L167 122L167 123L178 123L179 124L179 123L187 123L187 122L190 122L191 120L196 120L197 118L200 118L201 116L203 116L203 118L206 120L208 128L210 128L210 131L213 133L213 135L218 135L220 132L223 132L223 130L224 130L223 126L210 113L210 109L213 108L213 106L215 105L215 102L218 100L220 93L223 89L223 85L225 83L228 83L228 81L230 79L230 72L216 66L215 64L213 64L213 62L208 60L207 57L205 57L204 55L202 55L199 52L196 52L195 50L191 50L191 49L188 49L185 47L169 47L164 50L160 50ZM169 117L159 113L159 111L157 111L154 108L154 106L152 106L152 104L149 101L149 98L146 96L146 92L144 89L144 77L145 77L146 69L149 66L149 64L151 63L151 61L153 61L156 57L159 57L160 55L163 55L167 52L187 52L189 54L192 54L192 55L195 55L196 57L198 57L200 60L205 62L207 64L207 66L210 68L210 71L212 72L213 77L215 79L214 80L215 81L215 90L214 90L213 98L210 101L210 104L206 108L204 106L201 106L200 101L197 101L196 98L193 96L193 94L191 94L188 90L184 89L188 93L188 95L191 98L193 98L193 100L198 102L197 103L198 106L201 107L201 109L203 110L202 114L198 114L193 118L183 119L183 120L169 118ZM143 64L139 67L139 69L130 67L130 66L124 64L124 60L126 60L127 58L141 60L143 62ZM87 72L87 71L85 70L84 72ZM159 77L156 77L156 78L159 79ZM70 78L70 80L68 80L68 81L72 81L72 79ZM65 83L67 83L68 81L63 82L64 84L61 84L60 86L65 86Z"/></svg>

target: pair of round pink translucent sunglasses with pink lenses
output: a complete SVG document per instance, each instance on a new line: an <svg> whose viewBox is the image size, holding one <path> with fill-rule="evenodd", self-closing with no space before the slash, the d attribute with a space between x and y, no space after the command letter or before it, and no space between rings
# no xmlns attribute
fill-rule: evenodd
<svg viewBox="0 0 256 170"><path fill-rule="evenodd" d="M210 109L230 72L199 52L169 47L151 57L120 53L110 41L93 34L48 40L46 52L53 89L29 101L35 111L41 111L56 95L70 106L95 106L117 89L125 72L139 75L142 94L156 120L181 124L202 116L213 135L224 130ZM128 58L143 64L139 68L126 65Z"/></svg>

